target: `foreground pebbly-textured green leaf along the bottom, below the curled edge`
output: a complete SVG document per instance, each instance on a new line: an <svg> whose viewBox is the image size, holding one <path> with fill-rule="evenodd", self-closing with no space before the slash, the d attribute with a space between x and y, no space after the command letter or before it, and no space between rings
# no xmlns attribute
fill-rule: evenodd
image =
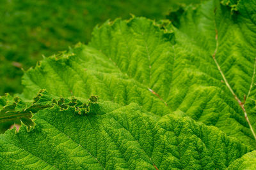
<svg viewBox="0 0 256 170"><path fill-rule="evenodd" d="M216 127L135 103L93 103L86 115L41 108L31 131L0 135L3 169L223 169L249 151Z"/></svg>

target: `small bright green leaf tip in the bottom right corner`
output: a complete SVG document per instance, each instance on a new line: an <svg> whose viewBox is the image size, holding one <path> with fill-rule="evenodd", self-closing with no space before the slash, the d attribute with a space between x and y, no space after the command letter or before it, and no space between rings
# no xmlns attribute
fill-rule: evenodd
<svg viewBox="0 0 256 170"><path fill-rule="evenodd" d="M255 169L256 168L256 151L246 153L240 159L232 162L228 169Z"/></svg>

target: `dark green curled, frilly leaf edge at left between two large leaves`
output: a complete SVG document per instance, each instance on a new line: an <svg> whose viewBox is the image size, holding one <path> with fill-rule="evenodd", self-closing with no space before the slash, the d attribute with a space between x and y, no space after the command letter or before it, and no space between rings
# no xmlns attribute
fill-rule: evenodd
<svg viewBox="0 0 256 170"><path fill-rule="evenodd" d="M65 99L63 97L55 97L52 99L45 90L40 90L33 101L23 101L20 97L12 98L7 94L0 98L0 103L3 104L0 110L1 132L6 131L14 123L23 123L30 129L34 126L33 120L31 120L32 114L44 108L51 108L52 106L58 105L62 110L65 110L69 106L75 108L77 113L81 115L88 113L90 111L90 104L97 103L97 101L98 98L95 96L90 97L88 104L75 98Z"/></svg>

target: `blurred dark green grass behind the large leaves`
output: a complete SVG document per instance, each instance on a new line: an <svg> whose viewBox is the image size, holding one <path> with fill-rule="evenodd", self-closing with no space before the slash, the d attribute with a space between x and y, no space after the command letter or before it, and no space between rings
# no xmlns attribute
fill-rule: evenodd
<svg viewBox="0 0 256 170"><path fill-rule="evenodd" d="M77 42L108 19L136 16L164 19L179 4L200 0L1 0L0 95L22 91L22 70Z"/></svg>

